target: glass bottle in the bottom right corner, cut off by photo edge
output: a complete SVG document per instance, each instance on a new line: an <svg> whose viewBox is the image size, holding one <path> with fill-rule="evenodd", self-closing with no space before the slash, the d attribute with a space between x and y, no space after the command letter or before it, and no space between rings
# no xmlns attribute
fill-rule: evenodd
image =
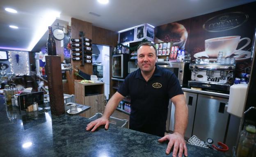
<svg viewBox="0 0 256 157"><path fill-rule="evenodd" d="M245 132L242 131L239 139L237 157L254 157L255 142L256 142L256 128L255 126L248 125L245 128ZM245 134L244 136L242 134Z"/></svg>

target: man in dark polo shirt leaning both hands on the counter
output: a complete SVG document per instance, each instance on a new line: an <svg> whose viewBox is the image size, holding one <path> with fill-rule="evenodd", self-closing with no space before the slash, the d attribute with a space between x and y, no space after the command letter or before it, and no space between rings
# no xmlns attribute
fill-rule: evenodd
<svg viewBox="0 0 256 157"><path fill-rule="evenodd" d="M103 116L89 123L86 130L92 128L91 131L94 131L101 125L107 129L110 115L119 102L130 95L130 129L161 136L159 142L169 140L167 154L174 147L173 157L177 153L178 157L182 157L183 150L187 156L184 134L188 109L178 79L171 71L155 65L156 49L150 42L139 45L137 58L139 69L125 78L122 86L108 101ZM174 133L164 136L169 99L175 104Z"/></svg>

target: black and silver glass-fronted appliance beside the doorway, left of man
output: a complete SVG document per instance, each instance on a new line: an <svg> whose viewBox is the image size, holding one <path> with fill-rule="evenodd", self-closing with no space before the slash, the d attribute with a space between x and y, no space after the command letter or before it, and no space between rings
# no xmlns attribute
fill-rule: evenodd
<svg viewBox="0 0 256 157"><path fill-rule="evenodd" d="M128 54L115 54L112 56L112 77L124 79L128 75Z"/></svg>

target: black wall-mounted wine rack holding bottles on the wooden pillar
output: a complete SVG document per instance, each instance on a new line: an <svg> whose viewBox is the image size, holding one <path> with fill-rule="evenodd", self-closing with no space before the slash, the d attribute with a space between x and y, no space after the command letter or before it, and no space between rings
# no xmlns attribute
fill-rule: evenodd
<svg viewBox="0 0 256 157"><path fill-rule="evenodd" d="M74 41L72 41L72 40L74 40ZM78 41L75 41L75 40L78 40ZM81 55L80 56L73 56L73 57L80 57L80 60L74 60L74 61L82 61L81 66L84 66L85 63L92 63L92 60L91 60L92 57L89 60L90 62L87 62L88 58L85 59L86 55L89 55L89 56L92 55L91 40L89 39L89 41L88 41L87 38L80 37L80 39L71 39L71 41L72 41L72 44L81 43L81 45L79 47L72 46L72 51L73 51L73 49L81 49L81 51L73 51L73 52L82 53L81 54L82 56ZM89 43L90 46L85 46L85 44L84 44L85 42ZM90 48L91 50L85 50L86 48Z"/></svg>

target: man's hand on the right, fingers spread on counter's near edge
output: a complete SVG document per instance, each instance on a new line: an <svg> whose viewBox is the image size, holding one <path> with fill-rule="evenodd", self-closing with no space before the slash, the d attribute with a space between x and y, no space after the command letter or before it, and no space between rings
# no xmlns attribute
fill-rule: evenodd
<svg viewBox="0 0 256 157"><path fill-rule="evenodd" d="M178 153L178 157L182 157L183 150L184 150L184 155L187 157L187 146L186 146L186 142L184 140L183 135L181 135L180 133L174 132L173 134L168 134L162 137L161 139L158 139L159 142L164 142L166 140L169 140L169 143L165 152L166 154L169 154L171 148L174 147L172 152L173 157L177 157L177 153ZM179 152L178 152L178 149L179 149Z"/></svg>

